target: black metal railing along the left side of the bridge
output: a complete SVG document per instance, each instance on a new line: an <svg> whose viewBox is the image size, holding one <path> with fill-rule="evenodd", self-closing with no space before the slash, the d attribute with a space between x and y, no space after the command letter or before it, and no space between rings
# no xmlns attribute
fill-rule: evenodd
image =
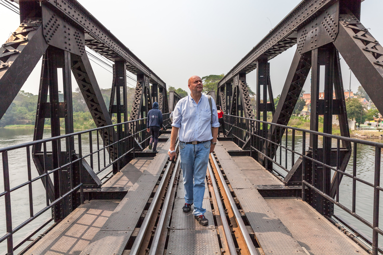
<svg viewBox="0 0 383 255"><path fill-rule="evenodd" d="M169 113L163 114L165 129L170 127L171 124L169 115ZM146 121L147 119L143 118L0 148L3 173L3 191L0 190L0 206L5 208L6 225L6 233L0 233L0 243L7 241L6 254L12 255L16 249L20 248L25 242L30 241L32 237L36 236L52 221L58 223L63 218L60 218L59 211L63 210L64 202L68 204L69 201L71 208L66 209L69 211L74 210L79 204L83 203L84 173L91 171L90 176L93 176L96 180L99 179L101 184L102 180L105 182L113 173L120 171L129 160L134 158L135 150L140 150L140 147L145 148L150 139L150 134L146 131ZM116 137L114 138L113 135L109 136L109 132L113 132L113 129L122 132L115 132ZM108 133L108 141L102 139L102 135L105 133ZM112 137L112 140L110 137ZM71 143L70 140L74 142ZM74 147L70 144L74 144ZM52 152L52 148L55 147L57 148L56 154ZM116 149L111 149L112 147ZM41 151L36 152L35 148L40 148ZM42 162L42 172L38 172L37 164L35 166L35 164L31 163L32 160L35 163L38 161L37 154L42 158L40 161ZM58 165L52 167L49 162L55 160ZM26 161L26 164L24 164L24 161ZM12 165L14 168L18 164L22 165L22 175L25 175L27 181L18 183L19 181L11 180L10 175L14 175ZM87 165L90 165L91 169L84 170ZM70 179L66 180L63 178L64 176L70 176ZM36 212L34 191L41 184L45 188L45 205ZM12 217L11 195L16 196L15 194L18 191L23 193L25 188L27 189L27 195L21 194L21 196L28 197L28 217L22 219L22 222L14 227L12 223L17 221ZM50 189L54 199L50 197ZM51 211L50 218L41 221L41 224L37 224L38 227L14 243L13 237L16 232L39 216L45 215L44 213L49 212L49 210ZM33 243L38 239L39 237ZM24 252L25 250L21 253Z"/></svg>

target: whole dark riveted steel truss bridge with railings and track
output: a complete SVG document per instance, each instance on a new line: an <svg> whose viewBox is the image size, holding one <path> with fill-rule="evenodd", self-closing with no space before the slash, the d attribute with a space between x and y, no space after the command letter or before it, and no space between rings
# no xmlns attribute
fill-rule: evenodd
<svg viewBox="0 0 383 255"><path fill-rule="evenodd" d="M307 247L302 247L304 241L295 236L294 227L289 226L288 220L283 221L286 215L280 212L289 214L286 210L292 202L283 200L289 207L263 199L287 196L300 198L302 203L293 203L296 210L307 205L315 211L314 218L349 233L358 244L351 245L353 252L382 253L379 208L383 145L350 138L340 68L341 54L377 109L383 112L383 48L360 22L361 0L302 0L218 83L216 102L222 106L228 128L227 137L219 139L210 155L205 198L211 226L207 230L215 232L207 236L207 230L198 229L195 223L187 223L194 224L194 232L189 229L189 234L185 234L188 228L173 226L181 217L183 183L180 159L170 162L167 158L170 130L163 132L158 154L146 149L150 138L146 117L152 103L159 102L167 129L171 128L169 113L181 97L171 91L168 99L166 83L79 2L19 0L19 9L20 25L0 48L0 118L38 60L42 57L43 61L33 141L0 149L4 182L0 201L5 207L6 223L0 244L6 242L6 254L47 254L54 245L62 254L180 254L182 245L177 237L188 240L190 233L216 241L203 246L194 240L193 247L187 248L195 254L317 254L314 248L307 251ZM295 44L297 50L275 107L268 61ZM102 98L85 46L114 62L109 106ZM62 102L58 97L59 68ZM253 70L257 72L255 111L246 84L246 74ZM310 130L287 127L310 70ZM127 71L137 76L129 121ZM74 132L71 73L95 129ZM325 81L323 100L319 99L321 76ZM271 123L267 122L268 112L272 114ZM117 123L112 123L113 115L117 116ZM339 118L341 136L332 134L333 115ZM323 132L318 132L319 116L323 116ZM51 123L51 138L42 139L47 119ZM60 121L65 124L64 135L60 135ZM302 138L298 139L298 135ZM372 146L375 150L372 181L358 176L359 146ZM22 159L11 156L15 151L22 151ZM10 182L12 160L25 162L27 181L16 186ZM348 165L352 166L351 172L347 171ZM352 180L351 206L340 200L345 178ZM43 184L46 200L46 206L38 212L32 189L37 183ZM357 183L373 189L370 218L358 214ZM22 190L27 190L29 214L15 226L11 195ZM372 234L358 232L334 213L335 207L366 225ZM79 223L85 215L90 219L89 215L96 215L92 210L104 211L105 221L98 227L94 222L81 223L89 227L82 235L92 234L90 228L96 232L91 238L81 236L87 242L77 252L65 250L68 242L60 244L58 238L69 235L65 224ZM20 229L30 226L45 212L51 212L48 220L27 236L15 239ZM264 215L270 222L262 222L265 217L257 215ZM101 219L101 215L97 217ZM281 226L285 228L274 229ZM271 232L274 236L268 234ZM275 238L278 242L274 242ZM340 239L344 242L344 238ZM323 238L318 242L325 241ZM342 249L351 254L346 246ZM335 250L329 253L342 254Z"/></svg>

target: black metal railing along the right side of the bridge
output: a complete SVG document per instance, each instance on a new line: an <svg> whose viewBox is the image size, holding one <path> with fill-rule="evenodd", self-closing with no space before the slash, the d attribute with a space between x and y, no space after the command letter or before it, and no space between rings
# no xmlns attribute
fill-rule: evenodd
<svg viewBox="0 0 383 255"><path fill-rule="evenodd" d="M368 249L371 249L370 252L373 255L377 255L378 252L382 253L378 241L379 235L383 235L383 231L379 227L379 220L380 218L383 219L379 214L380 192L383 191L383 187L380 186L383 143L292 128L237 116L224 115L224 118L229 130L228 136L231 136L243 149L250 150L250 156L263 162L263 165L279 176L282 181L297 163L296 159L301 159L302 200L305 201L310 195L309 191L322 197L332 204L333 210L335 209L336 213L331 213L331 216L349 228L354 226L351 230L372 246ZM272 128L279 128L279 132L276 132L279 133L279 137L270 138L271 135L267 130ZM263 130L266 131L263 132ZM315 144L311 141L310 146L310 143L307 144L310 139L312 141L319 140L319 142ZM266 146L265 143L272 146ZM329 152L323 149L322 145L325 143L330 143L332 147L332 154L330 153L332 158L330 159L326 159L326 153ZM363 152L362 155L360 148L364 148L368 152ZM348 163L340 160L345 154L349 155L350 161ZM348 157L343 158L349 160ZM309 166L310 171L308 171L307 166ZM331 171L333 175L331 192L325 192L324 186L318 187L316 185L316 174L325 171ZM366 171L370 171L371 175L367 175ZM346 184L342 185L342 181ZM330 184L327 183L327 185ZM373 197L371 205L366 202L363 204L364 201L361 200L368 200L369 195L361 199L362 195L357 192L357 186L358 190L366 190L366 192L371 193ZM358 207L358 204L363 205ZM337 208L334 208L334 205ZM347 221L342 221L344 218L347 218ZM355 227L354 223L347 225L348 221L359 222L359 225L358 227ZM370 230L368 235L365 234L366 229Z"/></svg>

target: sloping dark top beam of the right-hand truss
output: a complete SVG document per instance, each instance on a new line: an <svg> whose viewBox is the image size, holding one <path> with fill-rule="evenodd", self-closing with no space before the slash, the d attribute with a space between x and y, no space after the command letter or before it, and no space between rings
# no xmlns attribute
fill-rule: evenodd
<svg viewBox="0 0 383 255"><path fill-rule="evenodd" d="M292 47L297 37L293 33L334 2L336 0L302 0L218 82L218 88L231 81L236 74L254 70L258 58L270 60Z"/></svg>

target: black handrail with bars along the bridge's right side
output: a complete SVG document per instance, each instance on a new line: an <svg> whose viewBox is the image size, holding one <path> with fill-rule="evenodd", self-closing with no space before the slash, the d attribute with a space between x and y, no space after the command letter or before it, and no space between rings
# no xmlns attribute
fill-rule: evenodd
<svg viewBox="0 0 383 255"><path fill-rule="evenodd" d="M367 227L369 227L372 230L372 242L369 240L365 240L367 243L369 243L372 246L373 255L377 255L378 252L382 252L381 249L379 249L378 246L378 239L379 234L383 234L383 230L379 228L379 207L380 207L380 191L383 191L383 187L380 183L380 176L381 176L381 158L382 158L382 148L383 144L373 141L366 141L366 140L360 140L356 138L351 137L345 137L340 135L334 135L334 134L328 134L328 133L322 133L318 131L303 129L303 128L293 128L289 126L284 126L280 124L274 124L269 122L264 122L260 120L253 120L249 118L244 117L238 117L238 116L232 116L232 115L224 115L225 122L231 127L230 134L228 136L233 137L234 140L237 141L238 145L242 144L243 146L248 146L250 150L250 156L253 155L254 152L258 153L259 158L265 163L266 167L276 173L279 176L284 177L285 175L281 173L279 170L282 169L285 172L289 173L290 170L293 168L293 165L296 164L296 161L294 160L294 156L298 156L302 159L301 168L302 168L302 193L301 197L302 200L305 201L306 195L309 193L306 191L306 189L309 189L313 191L315 194L323 197L325 200L330 202L332 205L336 205L338 208L340 208L343 212L351 215L354 219L357 221L363 223ZM260 123L266 124L265 130L263 130L262 126L259 125ZM257 125L258 124L258 125ZM260 128L259 128L260 127ZM271 128L281 128L281 132L278 135L278 137L269 137L268 130ZM258 128L258 130L257 130ZM301 141L296 142L295 133L299 131L302 132L303 138ZM291 133L290 133L291 132ZM318 137L323 137L323 140L327 138L331 138L331 143L334 144L334 141L336 141L336 146L332 145L332 150L334 151L334 159L336 157L336 161L324 161L322 158L318 157L318 153L324 153L324 152L318 152L316 148L318 148L317 145L314 145L313 148L306 147L306 135L310 134L310 137L314 137L314 139L318 139ZM282 139L282 136L284 138ZM277 139L278 138L278 139ZM274 140L273 140L274 139ZM278 142L276 142L278 141ZM344 141L344 145L352 143L353 146L346 146L341 147L341 141ZM247 144L246 142L249 142ZM258 144L257 144L258 142ZM271 144L271 146L263 146L265 143ZM300 144L301 143L301 144ZM371 146L375 148L375 160L374 162L371 162L371 170L374 171L374 179L372 181L365 180L363 177L361 177L359 174L357 175L357 150L358 146L357 144L365 145L365 146ZM298 148L301 146L301 148ZM314 152L313 152L314 150ZM306 153L309 151L310 153ZM347 161L341 162L341 152L346 153L348 156L346 158ZM279 156L279 162L278 162L278 156ZM284 162L282 161L282 156L284 157ZM290 158L288 161L288 158ZM350 163L347 164L349 158L351 158ZM372 160L372 159L371 159ZM373 160L372 160L373 161ZM311 166L310 171L306 170L306 165L309 162L309 165ZM268 163L272 163L273 166L268 165ZM359 163L358 163L359 164ZM326 171L334 171L333 179L330 180L331 183L327 183L326 185L329 185L328 187L331 187L331 191L324 191L324 188L322 185L324 185L324 180L319 181L317 184L317 181L315 177L316 171L323 171L323 170L317 170L317 167L323 168L323 170ZM296 169L296 166L295 166ZM346 171L346 169L348 171ZM366 169L363 169L366 170ZM295 172L296 173L296 172ZM307 174L310 174L310 179L307 179ZM287 176L287 175L286 175ZM291 174L289 176L292 176ZM298 176L298 175L297 175ZM350 202L344 202L339 200L339 193L342 192L340 188L345 188L345 186L341 186L341 180L343 178L349 178L348 180L352 181L352 186L348 192L352 195L352 201ZM281 178L282 181L285 181L286 183L288 180L285 180ZM373 219L372 221L370 218L367 218L365 215L361 215L360 212L357 213L357 190L356 186L358 184L364 184L367 187L371 187L374 189L374 201L371 210ZM298 185L298 184L293 184ZM331 214L330 214L331 215ZM357 229L354 229L356 233L358 233Z"/></svg>

